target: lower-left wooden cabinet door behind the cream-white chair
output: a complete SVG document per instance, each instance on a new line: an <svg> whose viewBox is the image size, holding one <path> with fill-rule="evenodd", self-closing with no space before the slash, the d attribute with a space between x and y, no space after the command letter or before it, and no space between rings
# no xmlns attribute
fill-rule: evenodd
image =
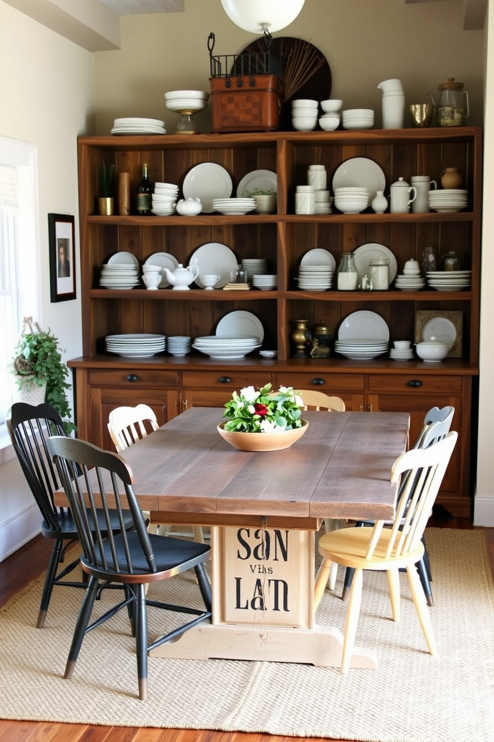
<svg viewBox="0 0 494 742"><path fill-rule="evenodd" d="M113 451L110 433L108 433L108 416L116 407L123 405L135 407L136 404L149 404L156 414L159 425L178 415L178 390L136 390L112 389L111 387L93 387L90 390L90 442Z"/></svg>

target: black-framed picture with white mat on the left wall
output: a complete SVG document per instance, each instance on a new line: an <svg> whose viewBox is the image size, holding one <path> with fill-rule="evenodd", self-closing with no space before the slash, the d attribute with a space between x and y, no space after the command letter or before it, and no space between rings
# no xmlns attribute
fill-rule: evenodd
<svg viewBox="0 0 494 742"><path fill-rule="evenodd" d="M48 214L51 302L76 298L76 249L74 217Z"/></svg>

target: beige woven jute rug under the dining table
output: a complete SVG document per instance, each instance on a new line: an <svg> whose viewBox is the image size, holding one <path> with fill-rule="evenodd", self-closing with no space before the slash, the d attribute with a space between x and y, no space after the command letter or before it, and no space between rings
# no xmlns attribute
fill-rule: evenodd
<svg viewBox="0 0 494 742"><path fill-rule="evenodd" d="M378 669L341 675L289 663L156 657L149 661L149 700L142 702L126 612L87 634L73 679L64 680L81 593L54 591L39 630L40 581L0 613L0 716L378 742L493 742L494 589L484 534L429 529L426 539L438 657L427 652L406 575L396 624L385 574L366 573L357 644L375 650ZM316 620L343 629L341 577ZM175 589L183 597L196 587L186 575L158 586L161 597L164 589L173 599ZM101 603L115 600L109 593ZM151 608L149 614L150 634L163 633L166 614Z"/></svg>

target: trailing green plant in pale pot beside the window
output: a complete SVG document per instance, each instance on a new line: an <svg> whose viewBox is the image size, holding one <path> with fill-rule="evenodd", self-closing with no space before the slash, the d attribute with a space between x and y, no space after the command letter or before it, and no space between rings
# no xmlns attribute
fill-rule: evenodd
<svg viewBox="0 0 494 742"><path fill-rule="evenodd" d="M20 401L51 404L64 421L65 431L76 430L65 393L70 389L66 381L69 372L61 361L58 338L50 330L44 332L30 317L24 317L10 372L16 378Z"/></svg>

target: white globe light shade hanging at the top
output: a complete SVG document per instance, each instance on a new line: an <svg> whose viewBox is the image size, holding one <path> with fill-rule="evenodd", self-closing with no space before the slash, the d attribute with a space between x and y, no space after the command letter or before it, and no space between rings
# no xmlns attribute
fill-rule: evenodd
<svg viewBox="0 0 494 742"><path fill-rule="evenodd" d="M279 31L296 19L305 0L221 0L233 23L250 33Z"/></svg>

